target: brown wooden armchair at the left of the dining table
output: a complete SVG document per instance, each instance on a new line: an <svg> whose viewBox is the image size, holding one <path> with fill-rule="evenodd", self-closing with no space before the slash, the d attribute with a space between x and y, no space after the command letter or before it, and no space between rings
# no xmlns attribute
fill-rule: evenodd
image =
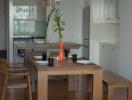
<svg viewBox="0 0 132 100"><path fill-rule="evenodd" d="M10 69L5 59L0 59L0 100L5 100L8 88L26 88L28 100L32 100L30 75L27 69Z"/></svg>

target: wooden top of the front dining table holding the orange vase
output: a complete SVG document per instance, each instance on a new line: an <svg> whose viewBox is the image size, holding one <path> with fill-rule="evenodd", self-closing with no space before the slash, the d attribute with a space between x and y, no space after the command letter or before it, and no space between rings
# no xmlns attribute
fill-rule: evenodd
<svg viewBox="0 0 132 100"><path fill-rule="evenodd" d="M71 60L64 60L62 64L55 64L54 66L49 67L48 65L38 65L35 64L35 59L30 58L30 62L34 65L37 72L44 72L50 75L61 75L61 74L88 74L93 73L94 71L102 70L99 65L95 64L80 64L73 63Z"/></svg>

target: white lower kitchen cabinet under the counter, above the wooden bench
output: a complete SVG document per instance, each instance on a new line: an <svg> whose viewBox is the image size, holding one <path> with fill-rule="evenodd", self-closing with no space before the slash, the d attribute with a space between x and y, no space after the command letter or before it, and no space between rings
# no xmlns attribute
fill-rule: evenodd
<svg viewBox="0 0 132 100"><path fill-rule="evenodd" d="M118 47L113 44L100 43L99 64L104 70L118 71Z"/></svg>

